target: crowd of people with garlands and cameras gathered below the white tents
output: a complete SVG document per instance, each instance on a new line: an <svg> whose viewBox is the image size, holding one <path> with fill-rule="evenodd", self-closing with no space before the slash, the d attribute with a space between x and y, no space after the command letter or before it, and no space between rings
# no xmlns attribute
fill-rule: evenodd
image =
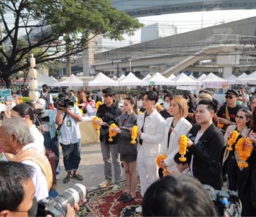
<svg viewBox="0 0 256 217"><path fill-rule="evenodd" d="M228 180L228 189L239 194L243 205L242 216L256 215L256 97L249 97L244 87L239 88L239 92L228 90L225 103L221 106L208 90L201 90L198 100L190 92L175 96L169 90L164 90L164 103L159 106L158 93L149 90L142 93L143 107L140 110L136 99L131 96L124 99L121 110L114 103L115 92L111 88L99 91L97 96L91 92L86 96L82 91L75 96L71 90L59 94L56 103L53 103L48 89L48 85L43 86L42 95L35 104L21 103L9 107L0 127L0 148L6 159L33 167L33 172L27 172L24 178L33 181L37 200L48 196L53 176L60 176L59 144L66 171L63 183L68 183L71 178L80 182L83 180L78 172L81 161L79 123L82 114L87 113L98 116L94 123L100 126L104 180L99 187L113 185L113 194L118 192L123 165L127 188L118 200L129 203L136 198L139 176L143 204L136 208L136 212L148 216L164 213L182 216L184 212L170 211L171 208L166 211L167 205L162 209L163 206L156 207L150 203L157 203L157 200L163 203L162 196L167 199L170 197L168 194L178 194L178 190L182 192L187 182L195 182L194 185L201 191L201 184L221 190L223 182ZM239 99L241 103L238 103ZM99 100L104 103L97 110L95 103ZM71 106L70 101L73 102ZM42 110L48 116L45 123L38 121L38 113ZM138 137L135 144L131 144L131 129L135 125L138 127ZM111 140L109 131L116 134ZM182 135L187 138L184 156L179 153ZM242 151L238 149L241 139L245 141ZM55 154L54 168L46 158L47 150ZM247 158L242 158L243 150L249 153ZM156 163L159 154L166 156L160 162L161 168ZM181 161L181 157L185 157L185 161ZM171 178L166 172L176 175ZM170 186L165 186L165 183ZM156 185L160 187L156 189ZM156 201L149 200L152 194ZM200 197L199 194L196 196ZM201 214L212 215L212 209Z"/></svg>

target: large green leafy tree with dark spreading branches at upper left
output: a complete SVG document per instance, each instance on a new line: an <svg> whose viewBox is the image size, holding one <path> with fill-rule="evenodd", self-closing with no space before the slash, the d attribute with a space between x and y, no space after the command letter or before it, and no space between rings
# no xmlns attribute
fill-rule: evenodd
<svg viewBox="0 0 256 217"><path fill-rule="evenodd" d="M32 53L37 63L54 61L86 50L98 34L121 41L143 26L110 0L5 0L0 14L0 77L6 83L29 68Z"/></svg>

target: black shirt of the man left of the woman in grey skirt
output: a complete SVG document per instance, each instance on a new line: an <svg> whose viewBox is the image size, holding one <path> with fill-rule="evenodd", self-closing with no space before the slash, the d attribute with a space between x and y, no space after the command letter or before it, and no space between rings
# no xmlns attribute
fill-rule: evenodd
<svg viewBox="0 0 256 217"><path fill-rule="evenodd" d="M111 107L107 107L105 104L100 105L98 108L96 116L102 118L102 121L107 123L107 125L111 125L111 123L115 123L118 125L118 116L120 116L121 110L120 108L112 103ZM100 141L103 141L105 138L105 144L117 144L118 143L118 136L113 137L113 141L109 141L109 127L106 125L102 125L100 127Z"/></svg>

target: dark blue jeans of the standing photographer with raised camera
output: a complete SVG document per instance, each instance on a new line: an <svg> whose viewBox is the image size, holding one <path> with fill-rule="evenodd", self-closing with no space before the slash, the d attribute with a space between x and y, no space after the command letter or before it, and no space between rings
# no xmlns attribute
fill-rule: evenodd
<svg viewBox="0 0 256 217"><path fill-rule="evenodd" d="M63 163L66 172L77 171L81 156L80 156L80 143L74 143L69 145L63 145L60 143L62 147L63 154Z"/></svg>

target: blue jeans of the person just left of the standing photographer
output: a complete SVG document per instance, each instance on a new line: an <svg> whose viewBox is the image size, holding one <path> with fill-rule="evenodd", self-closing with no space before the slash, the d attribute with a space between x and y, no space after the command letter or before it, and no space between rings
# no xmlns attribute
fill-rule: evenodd
<svg viewBox="0 0 256 217"><path fill-rule="evenodd" d="M44 132L44 147L51 150L55 154L55 167L56 175L60 174L60 152L59 152L59 140L57 137L51 139L50 132Z"/></svg>

